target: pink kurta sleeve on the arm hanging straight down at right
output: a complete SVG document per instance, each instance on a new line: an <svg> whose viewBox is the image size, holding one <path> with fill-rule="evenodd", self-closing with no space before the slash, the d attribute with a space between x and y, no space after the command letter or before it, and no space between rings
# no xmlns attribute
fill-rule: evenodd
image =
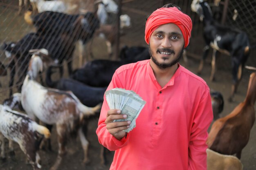
<svg viewBox="0 0 256 170"><path fill-rule="evenodd" d="M207 170L206 140L212 120L211 96L207 87L193 119L189 142L189 170Z"/></svg>

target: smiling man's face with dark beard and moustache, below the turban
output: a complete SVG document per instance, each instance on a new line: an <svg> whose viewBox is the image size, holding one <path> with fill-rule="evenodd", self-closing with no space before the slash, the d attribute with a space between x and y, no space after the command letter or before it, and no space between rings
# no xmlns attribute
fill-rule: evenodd
<svg viewBox="0 0 256 170"><path fill-rule="evenodd" d="M173 23L159 26L150 36L151 60L164 69L179 62L184 50L184 38L180 28Z"/></svg>

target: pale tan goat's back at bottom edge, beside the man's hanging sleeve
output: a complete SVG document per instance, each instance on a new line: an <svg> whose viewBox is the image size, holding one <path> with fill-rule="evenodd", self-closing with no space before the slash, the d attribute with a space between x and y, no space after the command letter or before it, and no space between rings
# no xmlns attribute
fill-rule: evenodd
<svg viewBox="0 0 256 170"><path fill-rule="evenodd" d="M207 170L243 170L241 161L231 155L222 155L207 148Z"/></svg>

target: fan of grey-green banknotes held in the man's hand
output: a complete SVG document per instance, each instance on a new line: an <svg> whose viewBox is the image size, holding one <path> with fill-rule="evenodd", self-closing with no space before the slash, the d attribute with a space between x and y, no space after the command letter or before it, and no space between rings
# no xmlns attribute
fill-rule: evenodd
<svg viewBox="0 0 256 170"><path fill-rule="evenodd" d="M146 102L134 91L128 91L124 88L113 88L106 91L106 100L110 109L120 109L121 114L126 114L126 119L117 119L115 121L131 121L130 127L125 132L130 132L136 126L136 119L139 116Z"/></svg>

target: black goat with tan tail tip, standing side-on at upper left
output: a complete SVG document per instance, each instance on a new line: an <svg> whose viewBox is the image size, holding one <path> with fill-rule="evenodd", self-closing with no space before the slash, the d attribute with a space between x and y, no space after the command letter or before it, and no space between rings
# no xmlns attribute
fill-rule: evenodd
<svg viewBox="0 0 256 170"><path fill-rule="evenodd" d="M67 15L64 13L57 13L53 11L45 11L38 13L35 16L25 15L27 23L33 24L38 33L44 35L68 35L74 37L73 41L79 40L79 53L83 52L83 44L92 38L94 31L99 28L99 20L97 18L97 11L87 12L84 15ZM81 18L84 16L84 18ZM76 20L81 18L81 26L77 27ZM75 27L75 26L76 27ZM79 63L82 63L82 55L79 55Z"/></svg>

